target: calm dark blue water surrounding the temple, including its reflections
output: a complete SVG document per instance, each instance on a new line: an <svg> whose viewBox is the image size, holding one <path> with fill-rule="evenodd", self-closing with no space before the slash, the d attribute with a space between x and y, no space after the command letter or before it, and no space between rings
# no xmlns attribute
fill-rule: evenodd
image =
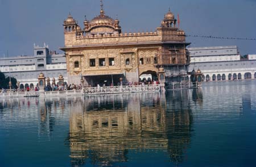
<svg viewBox="0 0 256 167"><path fill-rule="evenodd" d="M0 100L0 166L256 166L256 81Z"/></svg>

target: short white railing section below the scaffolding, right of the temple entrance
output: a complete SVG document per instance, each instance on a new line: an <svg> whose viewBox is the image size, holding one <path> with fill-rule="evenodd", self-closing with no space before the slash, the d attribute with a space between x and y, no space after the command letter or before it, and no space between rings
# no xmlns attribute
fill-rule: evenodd
<svg viewBox="0 0 256 167"><path fill-rule="evenodd" d="M166 90L193 89L201 87L200 82L172 82L166 85Z"/></svg>

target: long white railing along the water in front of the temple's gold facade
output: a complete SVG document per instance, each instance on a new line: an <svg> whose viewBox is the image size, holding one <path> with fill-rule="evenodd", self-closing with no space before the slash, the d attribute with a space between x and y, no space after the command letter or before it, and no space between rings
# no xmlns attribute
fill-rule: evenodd
<svg viewBox="0 0 256 167"><path fill-rule="evenodd" d="M85 87L86 94L115 94L115 93L136 93L146 91L160 91L160 85L133 85L133 86L110 86L110 87Z"/></svg>

